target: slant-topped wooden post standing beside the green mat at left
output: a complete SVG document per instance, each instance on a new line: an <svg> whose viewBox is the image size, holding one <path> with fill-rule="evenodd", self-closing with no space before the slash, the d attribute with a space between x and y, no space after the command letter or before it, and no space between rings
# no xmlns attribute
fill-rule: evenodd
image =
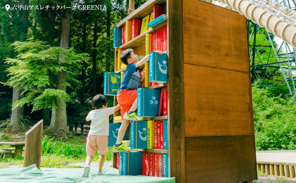
<svg viewBox="0 0 296 183"><path fill-rule="evenodd" d="M40 169L43 120L27 131L24 152L24 167L36 164Z"/></svg>

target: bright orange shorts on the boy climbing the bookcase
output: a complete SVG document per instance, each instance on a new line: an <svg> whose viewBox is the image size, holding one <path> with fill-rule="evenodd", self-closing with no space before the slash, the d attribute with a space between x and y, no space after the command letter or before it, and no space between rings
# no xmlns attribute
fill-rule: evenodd
<svg viewBox="0 0 296 183"><path fill-rule="evenodd" d="M137 90L121 90L117 93L117 102L120 105L121 119L131 109L133 102L138 98Z"/></svg>

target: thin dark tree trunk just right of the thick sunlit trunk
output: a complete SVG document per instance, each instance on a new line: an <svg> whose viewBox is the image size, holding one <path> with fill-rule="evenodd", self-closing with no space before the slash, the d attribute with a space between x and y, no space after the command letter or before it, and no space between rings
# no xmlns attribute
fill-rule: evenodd
<svg viewBox="0 0 296 183"><path fill-rule="evenodd" d="M82 52L86 52L86 24L83 25L83 37L82 37ZM85 98L84 98L84 85L85 85L85 61L82 63L81 68L81 90L80 90L80 104L83 106L85 105Z"/></svg>

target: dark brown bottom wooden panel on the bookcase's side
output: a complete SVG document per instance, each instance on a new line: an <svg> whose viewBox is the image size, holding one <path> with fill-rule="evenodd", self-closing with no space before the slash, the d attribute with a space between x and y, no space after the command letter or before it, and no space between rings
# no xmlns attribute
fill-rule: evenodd
<svg viewBox="0 0 296 183"><path fill-rule="evenodd" d="M185 138L186 182L257 180L254 136Z"/></svg>

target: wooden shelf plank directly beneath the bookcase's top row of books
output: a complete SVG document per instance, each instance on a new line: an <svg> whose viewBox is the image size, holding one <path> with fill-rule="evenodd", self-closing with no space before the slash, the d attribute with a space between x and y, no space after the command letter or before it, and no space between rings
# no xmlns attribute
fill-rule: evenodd
<svg viewBox="0 0 296 183"><path fill-rule="evenodd" d="M116 50L121 50L123 48L137 48L138 46L145 44L145 35L147 33L151 34L152 32L155 32L155 31L159 30L160 28L164 27L166 24L167 24L167 21L161 22L157 26L147 30L146 32L143 32L142 34L140 34L137 37L133 38L132 40L128 41L127 43L116 48Z"/></svg>

